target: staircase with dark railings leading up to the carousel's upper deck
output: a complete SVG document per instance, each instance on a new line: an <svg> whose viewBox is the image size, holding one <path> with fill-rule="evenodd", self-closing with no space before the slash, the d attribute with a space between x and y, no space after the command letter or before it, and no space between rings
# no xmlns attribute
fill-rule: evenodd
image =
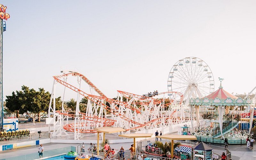
<svg viewBox="0 0 256 160"><path fill-rule="evenodd" d="M230 115L226 121L222 123L222 134L226 134L235 128L240 121L240 115ZM212 129L212 138L218 138L221 136L220 126Z"/></svg>

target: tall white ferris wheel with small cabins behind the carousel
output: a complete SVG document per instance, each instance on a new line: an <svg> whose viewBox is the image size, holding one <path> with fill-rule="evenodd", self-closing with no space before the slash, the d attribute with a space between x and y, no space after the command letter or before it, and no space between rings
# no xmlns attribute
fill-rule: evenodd
<svg viewBox="0 0 256 160"><path fill-rule="evenodd" d="M168 91L181 92L184 104L190 98L202 98L214 92L214 78L209 66L200 58L187 57L176 62L168 76ZM177 100L177 95L169 95Z"/></svg>

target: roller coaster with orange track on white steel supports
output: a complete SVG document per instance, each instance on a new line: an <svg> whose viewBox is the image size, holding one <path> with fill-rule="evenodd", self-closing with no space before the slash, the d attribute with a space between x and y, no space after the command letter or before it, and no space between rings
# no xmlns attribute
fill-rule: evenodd
<svg viewBox="0 0 256 160"><path fill-rule="evenodd" d="M79 87L68 83L68 76L77 77ZM118 95L115 100L105 96L87 77L80 73L64 73L63 75L53 76L53 78L48 114L49 117L53 114L55 118L54 127L59 126L56 132L93 133L97 132L95 130L96 127L103 126L122 127L127 132L142 131L180 123L182 117L177 116L177 110L186 108L186 106L182 105L183 94L180 92L162 92L153 97L146 97L117 91ZM82 81L99 95L82 91ZM63 101L66 88L77 93L77 102L80 101L81 96L88 99L86 113L80 112L79 103L76 104L76 111L65 110L64 103L62 103L62 110L56 111L56 84L64 86ZM180 100L174 101L170 99L170 94L179 95ZM156 99L156 96L163 96L163 98ZM123 101L123 97L126 98L126 101ZM73 117L75 119L74 123L68 124L68 117ZM65 119L67 119L66 123Z"/></svg>

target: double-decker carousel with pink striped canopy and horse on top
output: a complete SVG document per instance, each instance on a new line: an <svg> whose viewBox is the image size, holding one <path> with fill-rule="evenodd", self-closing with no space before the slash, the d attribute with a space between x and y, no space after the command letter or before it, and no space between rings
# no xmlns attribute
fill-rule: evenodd
<svg viewBox="0 0 256 160"><path fill-rule="evenodd" d="M192 135L197 140L210 143L224 143L228 139L229 144L246 143L246 138L251 137L249 131L241 129L241 115L254 113L254 104L251 99L238 98L225 91L222 87L203 98L190 99L190 116L196 118L197 128L192 125ZM253 117L253 116L252 116Z"/></svg>

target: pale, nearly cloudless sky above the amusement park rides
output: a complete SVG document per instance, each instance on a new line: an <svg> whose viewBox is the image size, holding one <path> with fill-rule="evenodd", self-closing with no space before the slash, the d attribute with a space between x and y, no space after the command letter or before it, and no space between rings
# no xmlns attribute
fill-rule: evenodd
<svg viewBox="0 0 256 160"><path fill-rule="evenodd" d="M204 60L215 90L256 85L256 1L12 1L4 32L4 97L22 85L52 91L62 66L76 67L107 97L116 90L166 92L172 66ZM68 79L69 80L69 79ZM70 78L70 84L77 84ZM83 84L84 91L89 93ZM63 95L58 84L57 96ZM254 91L256 92L256 91ZM67 91L65 99L76 98Z"/></svg>

